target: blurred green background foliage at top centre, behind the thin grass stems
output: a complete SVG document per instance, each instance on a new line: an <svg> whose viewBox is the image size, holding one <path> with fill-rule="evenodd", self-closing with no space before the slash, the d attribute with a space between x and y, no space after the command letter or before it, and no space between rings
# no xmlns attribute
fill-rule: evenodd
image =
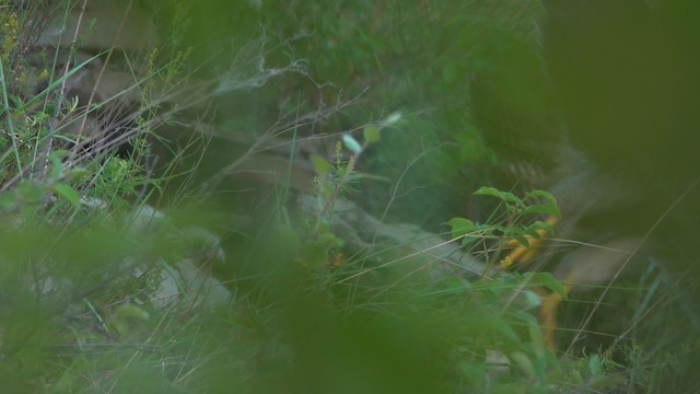
<svg viewBox="0 0 700 394"><path fill-rule="evenodd" d="M474 76L487 74L500 89L508 88L513 102L542 105L537 100L537 84L544 81L535 51L538 1L269 1L258 10L245 2L235 9L229 2L210 2L197 9L202 15L221 16L202 16L201 28L194 27L192 43L206 43L194 59L219 54L211 67L225 67L230 50L248 50L261 35L270 50L268 66L303 59L308 78L271 81L269 89L255 93L258 108L283 113L303 105L313 111L357 100L338 116L312 125L315 134L349 131L359 121L404 114L401 126L384 132L383 142L361 163L361 171L381 172L392 181L363 184L361 204L378 211L407 163L420 158L405 181L412 185L406 186L412 188L410 194L395 201L390 211L394 219L436 229L451 215L481 215L470 206L470 195L486 182L485 165L499 158L469 115ZM535 65L521 70L527 61ZM226 113L235 108L250 114L235 103ZM255 114L257 121L276 116ZM242 116L229 120L256 121Z"/></svg>

